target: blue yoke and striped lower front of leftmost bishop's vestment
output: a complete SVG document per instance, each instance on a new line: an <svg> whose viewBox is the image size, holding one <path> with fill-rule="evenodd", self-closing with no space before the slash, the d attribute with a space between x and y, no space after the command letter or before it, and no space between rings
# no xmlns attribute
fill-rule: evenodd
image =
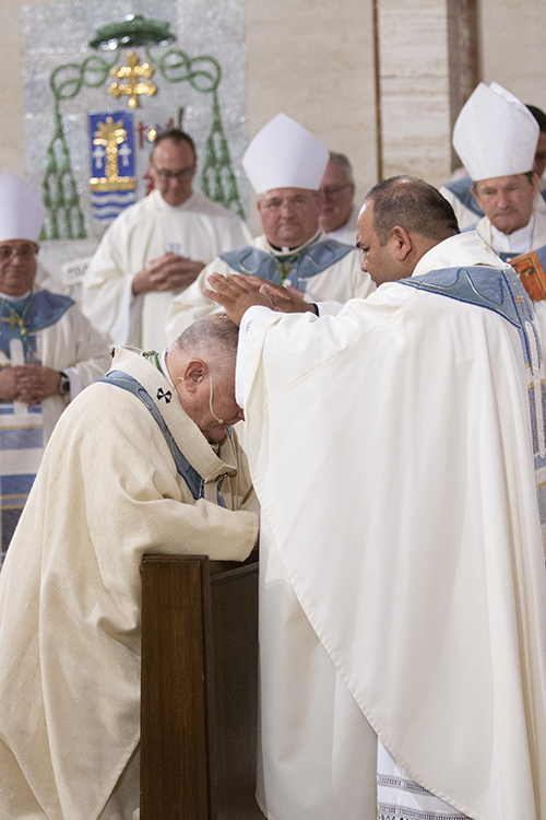
<svg viewBox="0 0 546 820"><path fill-rule="evenodd" d="M73 305L68 296L38 291L21 300L0 297L0 368L39 364L37 333ZM41 405L0 400L1 560L33 485L44 452Z"/></svg>

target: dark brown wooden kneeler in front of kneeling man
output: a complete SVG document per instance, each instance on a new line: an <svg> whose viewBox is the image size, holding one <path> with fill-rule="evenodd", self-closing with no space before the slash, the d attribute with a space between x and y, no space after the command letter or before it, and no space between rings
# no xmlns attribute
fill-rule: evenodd
<svg viewBox="0 0 546 820"><path fill-rule="evenodd" d="M142 561L141 820L263 820L258 554Z"/></svg>

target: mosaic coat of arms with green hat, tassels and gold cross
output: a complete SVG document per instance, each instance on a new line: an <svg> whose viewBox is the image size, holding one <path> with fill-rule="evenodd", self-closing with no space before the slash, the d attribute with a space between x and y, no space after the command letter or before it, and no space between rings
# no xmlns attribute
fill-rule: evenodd
<svg viewBox="0 0 546 820"><path fill-rule="evenodd" d="M59 9L61 5L59 4ZM78 3L74 5L79 7ZM94 5L91 0L85 13ZM165 3L166 8L167 5ZM103 7L97 4L97 10L98 8ZM173 4L173 12L176 15L176 4ZM181 126L180 112L185 108L190 112L192 121L199 121L201 129L202 124L206 122L206 108L203 115L202 105L197 105L199 97L210 101L209 133L200 138L200 144L204 144L204 151L200 152L201 189L211 199L244 215L218 98L222 67L212 56L191 57L188 52L171 47L176 36L169 25L168 22L149 20L142 14L130 14L121 21L98 26L88 42L88 47L95 54L83 60L76 58L51 71L49 87L54 96L54 132L46 149L41 181L43 200L47 208L41 239L85 238L86 220L83 208L90 212L90 204L93 220L105 226L123 208L132 204L136 196L143 192L138 195L138 187L142 186L139 179L142 179L147 165L145 148L150 147L155 136L171 127L175 119ZM144 48L145 59L141 59L141 55L132 50L136 47ZM124 48L131 50L123 52ZM115 82L111 82L112 78ZM166 94L173 83L177 83L180 90L186 86L187 92L182 91L176 96L171 92ZM162 105L159 110L164 113L158 116L155 106L154 112L146 114L145 99L161 96L162 92L166 94L165 105L173 106L173 102L168 101L176 99L175 107L169 110ZM194 92L198 94L197 102ZM74 121L81 114L74 117L74 105L69 105L80 94L88 101L90 107L86 138L84 133L75 133ZM94 96L96 104L91 102L90 105ZM108 101L111 104L112 97L119 99L120 104L124 104L127 99L129 110L126 108L124 112L116 112L109 108ZM133 112L136 110L139 119L133 121ZM195 120L197 110L201 113ZM70 131L69 140L67 128ZM87 176L91 202L84 200L82 208L82 183L76 183L76 175L81 174L82 140L85 139L91 167ZM76 165L72 164L71 157L74 144Z"/></svg>

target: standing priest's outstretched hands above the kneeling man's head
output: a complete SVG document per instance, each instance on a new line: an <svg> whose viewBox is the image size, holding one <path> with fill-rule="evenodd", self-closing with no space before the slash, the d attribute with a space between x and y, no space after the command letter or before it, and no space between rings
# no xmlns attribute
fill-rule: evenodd
<svg viewBox="0 0 546 820"><path fill-rule="evenodd" d="M203 288L203 293L222 305L235 325L240 325L252 305L263 305L281 313L316 314L314 305L306 302L304 292L296 288L283 288L246 273L211 273L207 281L211 288Z"/></svg>

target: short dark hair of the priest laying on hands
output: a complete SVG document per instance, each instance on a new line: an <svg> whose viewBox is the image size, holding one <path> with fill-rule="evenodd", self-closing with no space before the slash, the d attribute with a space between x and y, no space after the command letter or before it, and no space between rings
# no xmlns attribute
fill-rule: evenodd
<svg viewBox="0 0 546 820"><path fill-rule="evenodd" d="M395 225L408 233L441 242L459 234L455 213L440 191L413 176L391 176L366 195L373 204L373 231L380 245L387 245Z"/></svg>

